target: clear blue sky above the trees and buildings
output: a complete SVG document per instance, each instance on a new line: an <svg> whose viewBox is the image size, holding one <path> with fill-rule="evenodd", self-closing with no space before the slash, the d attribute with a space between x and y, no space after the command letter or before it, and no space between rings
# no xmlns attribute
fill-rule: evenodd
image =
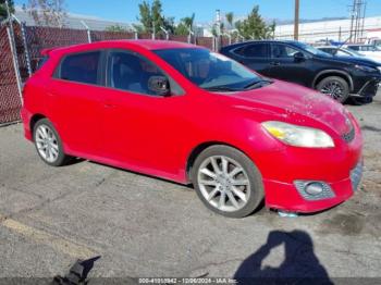
<svg viewBox="0 0 381 285"><path fill-rule="evenodd" d="M149 0L151 1L151 0ZM15 0L16 4L27 0ZM69 12L98 16L121 22L135 22L138 3L142 0L65 0ZM260 13L268 18L291 20L294 13L294 0L161 0L167 16L175 21L196 13L196 22L210 22L216 9L246 15L254 4L260 7ZM348 16L348 5L353 0L300 0L302 18L321 18ZM381 15L381 0L368 0L367 15Z"/></svg>

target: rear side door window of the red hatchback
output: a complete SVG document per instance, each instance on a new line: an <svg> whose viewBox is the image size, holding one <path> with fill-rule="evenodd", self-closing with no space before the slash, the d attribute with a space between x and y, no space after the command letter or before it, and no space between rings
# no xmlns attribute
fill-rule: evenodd
<svg viewBox="0 0 381 285"><path fill-rule="evenodd" d="M97 84L99 59L100 51L66 55L56 77L70 82Z"/></svg>

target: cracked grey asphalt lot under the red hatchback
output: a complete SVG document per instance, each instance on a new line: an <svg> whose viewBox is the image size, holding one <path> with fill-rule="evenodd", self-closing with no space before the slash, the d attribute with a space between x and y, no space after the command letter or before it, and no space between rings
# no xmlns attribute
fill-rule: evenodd
<svg viewBox="0 0 381 285"><path fill-rule="evenodd" d="M361 188L329 211L232 220L189 187L89 161L42 163L21 124L0 128L0 277L52 277L101 256L89 276L379 277L381 94L347 106L365 135Z"/></svg>

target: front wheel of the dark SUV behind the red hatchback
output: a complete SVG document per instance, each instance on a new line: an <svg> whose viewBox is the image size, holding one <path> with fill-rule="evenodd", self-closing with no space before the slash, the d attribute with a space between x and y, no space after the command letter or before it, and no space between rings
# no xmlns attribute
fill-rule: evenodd
<svg viewBox="0 0 381 285"><path fill-rule="evenodd" d="M317 89L341 103L344 103L349 97L349 86L347 82L339 76L323 78L317 85Z"/></svg>

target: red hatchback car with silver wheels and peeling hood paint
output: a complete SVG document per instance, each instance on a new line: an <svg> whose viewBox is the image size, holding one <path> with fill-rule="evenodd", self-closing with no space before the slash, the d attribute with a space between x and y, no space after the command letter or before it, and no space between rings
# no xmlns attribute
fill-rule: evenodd
<svg viewBox="0 0 381 285"><path fill-rule="evenodd" d="M183 184L217 213L314 212L361 176L354 116L315 90L208 49L119 40L46 50L24 87L25 136L59 166L81 157Z"/></svg>

